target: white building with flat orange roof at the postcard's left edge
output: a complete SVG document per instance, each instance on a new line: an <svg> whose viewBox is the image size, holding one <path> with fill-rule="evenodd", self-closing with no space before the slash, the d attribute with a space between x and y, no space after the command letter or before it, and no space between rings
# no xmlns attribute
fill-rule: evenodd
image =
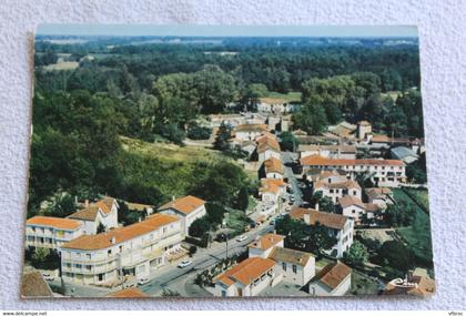
<svg viewBox="0 0 466 316"><path fill-rule="evenodd" d="M57 249L83 233L83 224L79 221L34 216L26 222L26 247Z"/></svg>

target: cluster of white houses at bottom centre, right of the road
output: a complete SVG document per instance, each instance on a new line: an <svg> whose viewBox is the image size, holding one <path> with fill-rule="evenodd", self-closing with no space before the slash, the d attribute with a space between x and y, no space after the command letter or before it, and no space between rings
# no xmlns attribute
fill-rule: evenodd
<svg viewBox="0 0 466 316"><path fill-rule="evenodd" d="M282 281L316 296L344 295L352 269L336 262L316 274L311 253L284 247L284 236L266 234L249 245L249 257L214 278L215 296L257 296Z"/></svg>

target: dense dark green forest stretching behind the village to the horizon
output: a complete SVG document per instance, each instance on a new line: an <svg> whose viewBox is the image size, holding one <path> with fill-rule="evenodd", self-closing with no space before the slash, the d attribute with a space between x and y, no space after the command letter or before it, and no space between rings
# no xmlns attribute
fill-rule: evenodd
<svg viewBox="0 0 466 316"><path fill-rule="evenodd" d="M204 114L232 111L232 102L254 110L271 92L302 93L293 121L310 133L366 119L378 131L423 136L414 44L118 43L37 42L29 215L57 192L156 205L170 198L161 183L173 170L190 180L181 193L234 206L241 188L252 185L231 161L164 164L124 151L121 136L182 145L186 135L205 134ZM48 68L59 58L79 65ZM219 183L222 176L230 181Z"/></svg>

